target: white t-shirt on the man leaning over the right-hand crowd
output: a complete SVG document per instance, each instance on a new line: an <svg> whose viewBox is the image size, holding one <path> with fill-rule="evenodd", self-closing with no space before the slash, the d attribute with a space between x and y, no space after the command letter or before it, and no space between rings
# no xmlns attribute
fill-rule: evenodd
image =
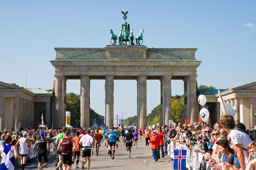
<svg viewBox="0 0 256 170"><path fill-rule="evenodd" d="M235 126L237 127L237 126ZM241 143L242 144L242 147L244 149L247 148L247 146L249 145L249 143L252 142L252 139L246 134L246 133L243 133L239 130L231 130L230 132L230 139L232 141L232 145L236 145L236 144L239 144ZM243 149L243 154L244 154L244 159L245 159L245 164L246 166L248 165L248 156L247 156L247 153L246 153L246 150Z"/></svg>

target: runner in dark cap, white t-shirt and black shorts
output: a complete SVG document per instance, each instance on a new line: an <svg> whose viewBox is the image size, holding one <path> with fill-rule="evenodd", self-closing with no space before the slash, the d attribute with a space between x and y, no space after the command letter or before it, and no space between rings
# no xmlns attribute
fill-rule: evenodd
<svg viewBox="0 0 256 170"><path fill-rule="evenodd" d="M80 141L79 144L82 146L82 157L83 157L83 162L82 162L82 169L84 169L84 164L86 164L86 161L88 159L88 164L87 168L88 170L90 169L90 159L91 159L91 146L92 149L94 149L94 143L93 143L93 137L90 136L91 130L87 130L87 135L84 135Z"/></svg>

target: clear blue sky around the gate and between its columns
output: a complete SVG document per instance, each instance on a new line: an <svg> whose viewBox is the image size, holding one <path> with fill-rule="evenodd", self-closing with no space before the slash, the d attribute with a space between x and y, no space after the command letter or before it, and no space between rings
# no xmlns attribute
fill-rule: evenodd
<svg viewBox="0 0 256 170"><path fill-rule="evenodd" d="M198 48L198 85L233 88L256 81L256 1L1 1L0 81L52 88L54 47L105 47L122 11L149 48ZM137 114L136 81L114 81L114 113ZM80 94L80 80L67 93ZM172 95L183 94L172 81ZM91 108L105 115L104 80L91 80ZM147 81L147 113L160 104L160 81ZM115 116L114 116L115 117Z"/></svg>

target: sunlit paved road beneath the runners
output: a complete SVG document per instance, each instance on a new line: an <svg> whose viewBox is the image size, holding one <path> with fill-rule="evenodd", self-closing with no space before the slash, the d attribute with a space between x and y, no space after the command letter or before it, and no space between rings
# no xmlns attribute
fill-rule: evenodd
<svg viewBox="0 0 256 170"><path fill-rule="evenodd" d="M131 158L128 158L128 151L126 151L123 142L119 143L118 149L115 150L115 159L109 158L108 149L101 143L99 156L94 153L91 156L90 169L173 169L173 167L167 167L168 163L165 163L167 157L164 160L158 160L158 162L152 162L153 156L150 156L152 150L150 146L145 146L145 138L138 141L138 148L132 147ZM56 157L52 155L49 157L49 165L44 170L54 170ZM44 161L42 161L44 163ZM75 169L76 162L72 165L72 169ZM81 157L78 166L81 169ZM85 165L87 169L87 164ZM20 168L19 168L20 169ZM26 166L25 169L37 169L37 162Z"/></svg>

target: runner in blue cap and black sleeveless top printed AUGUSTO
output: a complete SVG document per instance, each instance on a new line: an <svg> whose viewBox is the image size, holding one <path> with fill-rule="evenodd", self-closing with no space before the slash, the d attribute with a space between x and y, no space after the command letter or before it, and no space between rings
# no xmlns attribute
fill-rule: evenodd
<svg viewBox="0 0 256 170"><path fill-rule="evenodd" d="M49 150L50 150L50 143L49 143L49 140L47 140L45 138L45 133L41 132L40 137L41 138L39 138L36 141L35 145L33 146L33 149L35 151L37 151L38 170L42 170L44 167L46 167L49 164L47 151L49 152ZM36 148L36 146L37 146L37 148ZM45 163L44 163L44 165L41 166L42 157L44 158Z"/></svg>

